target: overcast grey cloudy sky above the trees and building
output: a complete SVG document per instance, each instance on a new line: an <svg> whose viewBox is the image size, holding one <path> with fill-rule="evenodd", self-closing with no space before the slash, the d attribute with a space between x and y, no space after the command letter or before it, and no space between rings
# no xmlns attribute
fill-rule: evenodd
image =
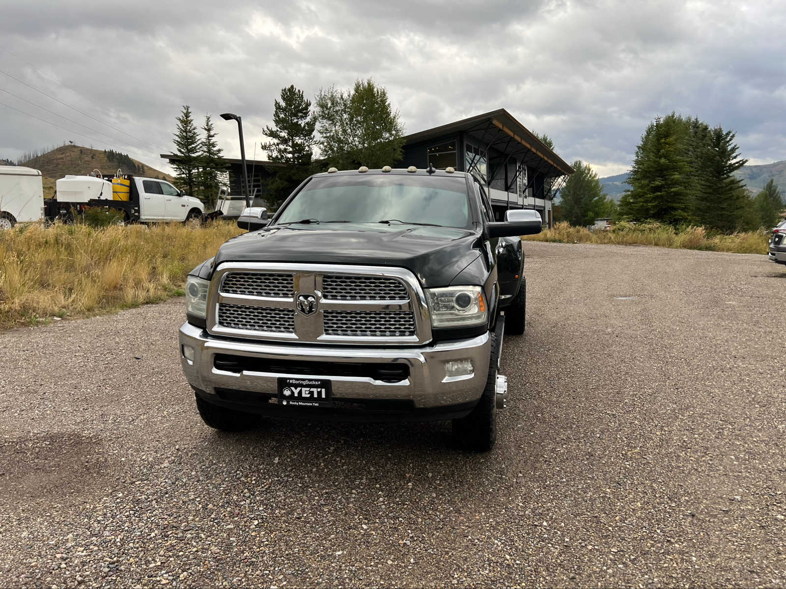
<svg viewBox="0 0 786 589"><path fill-rule="evenodd" d="M189 104L228 156L237 128L218 115L242 115L263 159L283 86L373 77L407 134L506 108L606 176L674 110L769 163L786 159L784 31L786 2L764 1L3 2L0 158L72 140L169 170L158 154Z"/></svg>

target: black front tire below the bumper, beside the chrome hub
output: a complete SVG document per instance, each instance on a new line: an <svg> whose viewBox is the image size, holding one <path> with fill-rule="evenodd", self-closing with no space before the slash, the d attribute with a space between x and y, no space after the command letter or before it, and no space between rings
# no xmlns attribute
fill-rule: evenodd
<svg viewBox="0 0 786 589"><path fill-rule="evenodd" d="M472 409L472 413L461 419L454 419L453 437L459 448L473 452L488 452L497 441L497 364L499 342L497 335L491 334L491 357L486 387L483 396Z"/></svg>

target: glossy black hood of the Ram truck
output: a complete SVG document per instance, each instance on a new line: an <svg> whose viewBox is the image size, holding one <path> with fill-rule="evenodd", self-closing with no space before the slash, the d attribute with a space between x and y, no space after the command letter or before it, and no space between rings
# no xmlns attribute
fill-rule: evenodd
<svg viewBox="0 0 786 589"><path fill-rule="evenodd" d="M394 266L409 269L424 287L442 287L479 256L479 237L468 229L418 225L274 227L224 243L213 268L222 262Z"/></svg>

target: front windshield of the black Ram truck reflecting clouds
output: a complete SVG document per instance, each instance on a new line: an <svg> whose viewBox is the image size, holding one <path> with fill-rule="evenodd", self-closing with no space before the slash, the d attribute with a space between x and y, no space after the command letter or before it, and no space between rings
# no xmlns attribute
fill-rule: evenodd
<svg viewBox="0 0 786 589"><path fill-rule="evenodd" d="M276 225L343 221L468 227L465 178L368 174L316 177L288 204Z"/></svg>

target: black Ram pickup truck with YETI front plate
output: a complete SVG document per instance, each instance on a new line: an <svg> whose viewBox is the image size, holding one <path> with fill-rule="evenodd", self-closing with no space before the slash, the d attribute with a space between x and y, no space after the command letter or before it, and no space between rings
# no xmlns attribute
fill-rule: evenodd
<svg viewBox="0 0 786 589"><path fill-rule="evenodd" d="M315 174L270 221L237 222L185 289L182 368L208 426L451 419L461 447L494 445L537 211L497 222L470 174L386 166Z"/></svg>

